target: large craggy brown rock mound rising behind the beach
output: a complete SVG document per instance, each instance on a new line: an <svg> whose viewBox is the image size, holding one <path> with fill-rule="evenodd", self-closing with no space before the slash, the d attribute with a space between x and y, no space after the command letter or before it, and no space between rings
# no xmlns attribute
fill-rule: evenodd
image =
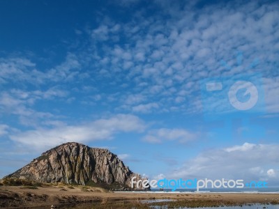
<svg viewBox="0 0 279 209"><path fill-rule="evenodd" d="M130 188L131 179L142 179L107 149L70 142L47 150L22 169L6 177L27 178L40 183L86 185L101 183ZM142 189L142 188L139 188Z"/></svg>

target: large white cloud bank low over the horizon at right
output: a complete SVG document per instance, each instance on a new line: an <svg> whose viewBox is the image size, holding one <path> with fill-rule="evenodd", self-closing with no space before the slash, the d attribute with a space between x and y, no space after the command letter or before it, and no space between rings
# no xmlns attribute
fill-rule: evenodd
<svg viewBox="0 0 279 209"><path fill-rule="evenodd" d="M172 178L231 178L243 180L269 180L279 184L278 144L249 144L205 150L183 167L175 169ZM276 169L270 169L271 167Z"/></svg>

